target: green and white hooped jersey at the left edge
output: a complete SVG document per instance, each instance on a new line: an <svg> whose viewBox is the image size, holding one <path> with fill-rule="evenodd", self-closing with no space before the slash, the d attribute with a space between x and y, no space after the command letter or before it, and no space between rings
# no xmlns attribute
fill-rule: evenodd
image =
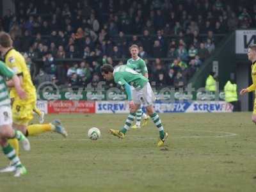
<svg viewBox="0 0 256 192"><path fill-rule="evenodd" d="M12 69L0 61L0 106L10 106L11 100L9 97L8 87L6 85L6 77L11 79L14 76Z"/></svg>

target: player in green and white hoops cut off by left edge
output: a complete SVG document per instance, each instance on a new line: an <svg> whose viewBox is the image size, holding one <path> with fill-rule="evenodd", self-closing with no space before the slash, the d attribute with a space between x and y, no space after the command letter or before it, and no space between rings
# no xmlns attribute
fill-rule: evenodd
<svg viewBox="0 0 256 192"><path fill-rule="evenodd" d="M20 159L13 147L8 143L8 139L16 138L19 140L22 143L24 150L30 150L30 144L22 132L12 129L11 100L6 85L6 78L12 79L15 90L20 99L25 99L26 92L24 92L20 86L19 77L16 76L10 68L6 67L2 61L0 61L0 145L3 148L4 155L8 157L13 165L13 172L15 171L14 176L20 177L20 175L26 174L27 170L20 163Z"/></svg>

